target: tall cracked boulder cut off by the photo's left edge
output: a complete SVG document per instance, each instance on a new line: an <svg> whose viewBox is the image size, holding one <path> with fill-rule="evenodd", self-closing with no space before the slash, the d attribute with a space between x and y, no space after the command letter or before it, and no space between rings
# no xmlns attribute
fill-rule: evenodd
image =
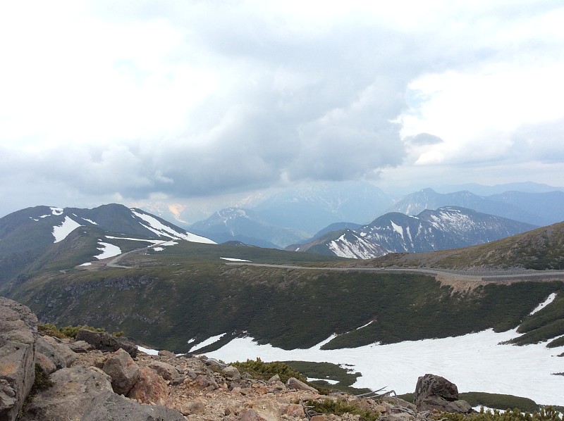
<svg viewBox="0 0 564 421"><path fill-rule="evenodd" d="M16 420L35 381L37 317L0 297L0 420Z"/></svg>

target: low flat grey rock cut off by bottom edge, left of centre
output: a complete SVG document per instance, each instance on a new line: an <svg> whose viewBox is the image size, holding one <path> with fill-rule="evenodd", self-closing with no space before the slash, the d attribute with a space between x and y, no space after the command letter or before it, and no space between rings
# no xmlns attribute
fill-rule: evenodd
<svg viewBox="0 0 564 421"><path fill-rule="evenodd" d="M185 417L166 406L142 405L105 392L94 398L80 421L185 421Z"/></svg>

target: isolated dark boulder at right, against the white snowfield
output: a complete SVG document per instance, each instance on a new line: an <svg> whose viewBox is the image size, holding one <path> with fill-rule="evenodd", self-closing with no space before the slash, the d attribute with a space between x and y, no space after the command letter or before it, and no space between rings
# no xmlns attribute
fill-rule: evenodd
<svg viewBox="0 0 564 421"><path fill-rule="evenodd" d="M472 412L472 407L467 401L459 400L456 384L441 376L427 374L419 377L415 387L414 400L419 411Z"/></svg>

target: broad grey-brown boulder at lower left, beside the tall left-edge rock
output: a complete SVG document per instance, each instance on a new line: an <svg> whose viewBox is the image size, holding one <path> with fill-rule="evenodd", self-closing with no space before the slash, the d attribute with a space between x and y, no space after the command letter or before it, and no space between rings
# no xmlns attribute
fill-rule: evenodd
<svg viewBox="0 0 564 421"><path fill-rule="evenodd" d="M104 391L114 393L111 378L96 367L75 365L49 376L51 387L27 402L21 421L80 420L92 399Z"/></svg>

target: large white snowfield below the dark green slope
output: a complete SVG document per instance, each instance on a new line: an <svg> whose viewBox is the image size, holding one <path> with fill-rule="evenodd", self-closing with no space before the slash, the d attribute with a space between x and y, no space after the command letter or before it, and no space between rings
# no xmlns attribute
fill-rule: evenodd
<svg viewBox="0 0 564 421"><path fill-rule="evenodd" d="M326 341L309 349L286 351L259 345L247 337L233 339L206 355L226 362L259 357L266 362L350 364L350 368L362 373L354 387L386 387L397 394L414 391L417 377L433 373L456 384L459 391L511 394L532 398L539 404L564 405L564 376L552 374L563 371L564 357L558 355L564 352L564 346L548 349L544 344L500 344L517 336L516 329L502 333L488 329L462 337L327 351L320 349Z"/></svg>

